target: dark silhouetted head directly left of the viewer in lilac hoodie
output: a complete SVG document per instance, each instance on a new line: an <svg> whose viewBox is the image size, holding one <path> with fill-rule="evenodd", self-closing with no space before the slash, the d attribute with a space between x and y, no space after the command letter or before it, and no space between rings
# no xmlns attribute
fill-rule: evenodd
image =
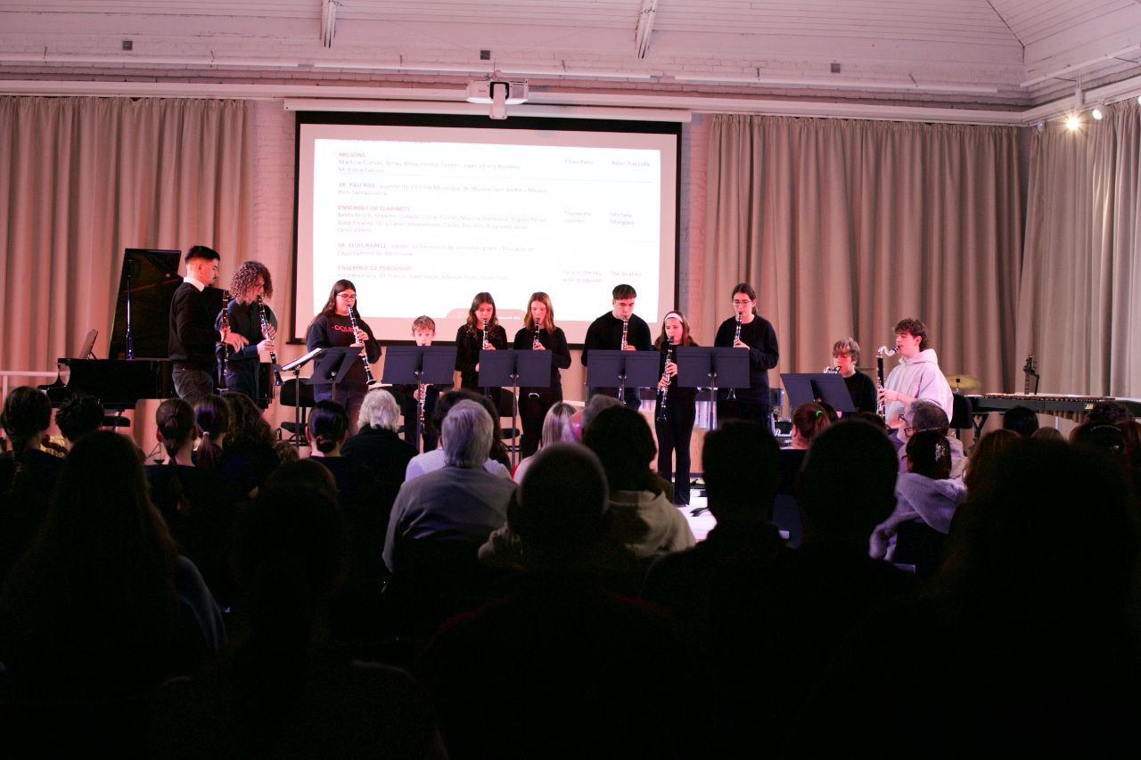
<svg viewBox="0 0 1141 760"><path fill-rule="evenodd" d="M896 508L899 460L883 421L842 420L812 440L796 478L804 540L867 544Z"/></svg>

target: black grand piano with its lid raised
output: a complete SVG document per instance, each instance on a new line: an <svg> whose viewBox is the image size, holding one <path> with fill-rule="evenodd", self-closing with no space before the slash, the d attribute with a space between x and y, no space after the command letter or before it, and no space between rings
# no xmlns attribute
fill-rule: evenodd
<svg viewBox="0 0 1141 760"><path fill-rule="evenodd" d="M170 301L183 283L178 274L180 251L127 249L119 280L115 321L111 331L110 358L81 357L56 359L56 381L40 386L52 406L76 393L95 396L108 411L135 409L145 398L175 396L173 369L167 357L170 333ZM211 309L221 309L222 291L207 288L203 296ZM128 330L129 328L129 330ZM259 367L259 387L273 399L272 367Z"/></svg>

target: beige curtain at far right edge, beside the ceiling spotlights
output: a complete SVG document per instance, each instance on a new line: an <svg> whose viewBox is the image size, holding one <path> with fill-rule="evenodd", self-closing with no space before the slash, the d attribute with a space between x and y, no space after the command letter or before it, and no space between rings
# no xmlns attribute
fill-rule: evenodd
<svg viewBox="0 0 1141 760"><path fill-rule="evenodd" d="M1044 393L1141 396L1139 107L1030 143L1018 356Z"/></svg>

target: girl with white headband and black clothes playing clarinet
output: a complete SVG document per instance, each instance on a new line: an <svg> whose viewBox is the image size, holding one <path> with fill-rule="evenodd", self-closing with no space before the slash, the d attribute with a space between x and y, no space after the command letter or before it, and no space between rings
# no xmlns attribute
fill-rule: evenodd
<svg viewBox="0 0 1141 760"><path fill-rule="evenodd" d="M678 385L677 347L696 345L689 334L686 315L681 312L667 312L662 318L662 333L654 341L654 348L662 353L662 379L657 383L654 427L657 430L657 474L666 480L677 475L673 479L673 503L679 506L689 503L689 439L697 417L697 389ZM671 350L674 351L673 361L667 358ZM677 470L673 468L674 458L678 462Z"/></svg>

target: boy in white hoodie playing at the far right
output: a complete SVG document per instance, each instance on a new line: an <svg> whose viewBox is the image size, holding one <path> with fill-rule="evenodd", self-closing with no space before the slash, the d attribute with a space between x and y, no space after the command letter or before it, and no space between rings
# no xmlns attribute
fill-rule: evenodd
<svg viewBox="0 0 1141 760"><path fill-rule="evenodd" d="M880 390L888 427L903 426L904 411L916 399L938 404L949 420L954 412L953 394L939 369L939 357L933 348L928 348L926 325L919 320L900 320L896 325L896 350L899 365L888 374Z"/></svg>

